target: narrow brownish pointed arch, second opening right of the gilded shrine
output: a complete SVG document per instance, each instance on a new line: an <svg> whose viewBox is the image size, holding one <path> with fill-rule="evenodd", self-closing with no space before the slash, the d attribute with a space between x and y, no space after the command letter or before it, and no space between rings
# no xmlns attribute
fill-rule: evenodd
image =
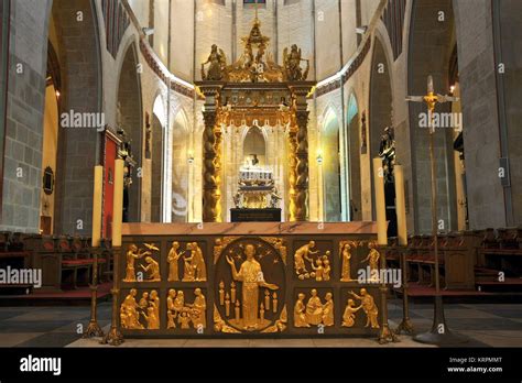
<svg viewBox="0 0 522 383"><path fill-rule="evenodd" d="M349 218L351 221L362 220L362 197L361 197L361 134L360 117L357 99L350 95L347 108L347 135L349 146L347 156L349 157Z"/></svg>

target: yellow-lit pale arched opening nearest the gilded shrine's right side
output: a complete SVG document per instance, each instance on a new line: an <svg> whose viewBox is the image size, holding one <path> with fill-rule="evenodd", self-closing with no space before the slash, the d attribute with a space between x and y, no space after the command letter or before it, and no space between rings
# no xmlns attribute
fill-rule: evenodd
<svg viewBox="0 0 522 383"><path fill-rule="evenodd" d="M339 120L335 112L329 110L323 121L320 140L320 162L323 173L323 206L324 220L338 222L342 220L342 195L340 171Z"/></svg>

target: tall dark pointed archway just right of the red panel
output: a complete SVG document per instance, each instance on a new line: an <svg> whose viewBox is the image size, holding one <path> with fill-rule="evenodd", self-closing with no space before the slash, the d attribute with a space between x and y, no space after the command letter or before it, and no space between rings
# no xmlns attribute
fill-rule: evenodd
<svg viewBox="0 0 522 383"><path fill-rule="evenodd" d="M126 47L121 68L119 70L117 109L118 129L123 129L130 140L131 154L138 167L143 158L143 127L142 127L142 99L141 79L138 72L138 51L132 41ZM119 120L119 121L118 121ZM130 222L141 220L141 177L132 176L132 184L126 188L124 219ZM127 210L127 211L126 211Z"/></svg>

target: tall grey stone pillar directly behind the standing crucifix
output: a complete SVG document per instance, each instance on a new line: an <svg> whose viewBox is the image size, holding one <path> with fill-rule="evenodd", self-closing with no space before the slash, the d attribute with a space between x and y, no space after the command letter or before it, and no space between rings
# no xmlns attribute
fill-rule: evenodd
<svg viewBox="0 0 522 383"><path fill-rule="evenodd" d="M436 10L436 11L434 11ZM438 20L444 12L444 22ZM433 76L435 92L449 94L449 62L454 52L455 22L452 0L414 1L410 20L407 92L425 95L427 76ZM427 59L429 57L429 59ZM436 112L450 112L452 105L438 105ZM409 102L412 156L413 221L417 233L432 231L431 167L428 130L420 128L426 106ZM450 127L448 127L450 128ZM442 231L457 229L454 130L435 130L437 160L437 219Z"/></svg>

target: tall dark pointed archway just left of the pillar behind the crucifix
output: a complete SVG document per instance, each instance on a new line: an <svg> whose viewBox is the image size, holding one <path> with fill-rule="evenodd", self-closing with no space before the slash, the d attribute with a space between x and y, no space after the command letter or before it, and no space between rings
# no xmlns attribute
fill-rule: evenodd
<svg viewBox="0 0 522 383"><path fill-rule="evenodd" d="M391 62L388 59L384 46L380 37L374 39L373 41L373 56L372 56L372 66L371 66L371 77L370 77L370 168L371 174L373 174L373 162L371 158L383 157L383 143L389 140L390 134L393 132L393 95L391 87ZM393 140L392 140L393 141ZM389 162L392 164L393 161ZM395 214L395 188L393 179L393 167L385 166L385 177L384 177L384 197L385 197L385 207L387 207L387 220L389 221L388 226L388 236L396 236L396 214ZM388 169L388 172L387 172ZM373 185L371 187L372 201L376 200L376 189ZM372 216L373 219L377 219L376 216L376 204L372 204Z"/></svg>

